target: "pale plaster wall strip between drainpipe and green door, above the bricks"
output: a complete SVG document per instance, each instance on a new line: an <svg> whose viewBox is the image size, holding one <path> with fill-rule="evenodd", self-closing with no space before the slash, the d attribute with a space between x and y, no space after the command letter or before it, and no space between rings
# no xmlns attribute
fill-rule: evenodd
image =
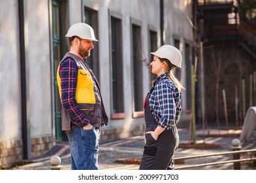
<svg viewBox="0 0 256 183"><path fill-rule="evenodd" d="M28 87L31 137L51 135L51 48L48 0L27 1L28 17Z"/></svg>

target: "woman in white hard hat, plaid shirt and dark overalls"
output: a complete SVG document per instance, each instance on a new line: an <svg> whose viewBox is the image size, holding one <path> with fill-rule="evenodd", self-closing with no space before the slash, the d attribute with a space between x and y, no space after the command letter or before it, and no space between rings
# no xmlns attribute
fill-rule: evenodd
<svg viewBox="0 0 256 183"><path fill-rule="evenodd" d="M175 67L181 68L181 52L171 45L163 45L154 55L152 73L158 75L144 101L146 144L140 170L174 169L173 154L179 145L176 127L181 116L181 82L173 76Z"/></svg>

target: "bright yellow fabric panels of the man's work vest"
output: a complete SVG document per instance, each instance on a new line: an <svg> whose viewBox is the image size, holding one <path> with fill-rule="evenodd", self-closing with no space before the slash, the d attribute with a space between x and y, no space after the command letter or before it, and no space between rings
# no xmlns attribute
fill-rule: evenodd
<svg viewBox="0 0 256 183"><path fill-rule="evenodd" d="M59 75L59 67L57 70L57 82L58 82L58 92L60 93L61 100L61 85L60 85L60 75ZM95 104L95 92L93 89L93 78L89 71L85 71L84 69L78 69L77 73L77 88L75 92L75 100L77 103L88 103Z"/></svg>

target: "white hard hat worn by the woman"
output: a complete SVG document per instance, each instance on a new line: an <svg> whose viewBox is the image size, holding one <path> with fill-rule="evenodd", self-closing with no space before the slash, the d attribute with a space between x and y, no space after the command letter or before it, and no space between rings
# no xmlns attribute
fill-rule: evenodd
<svg viewBox="0 0 256 183"><path fill-rule="evenodd" d="M151 52L150 54L158 56L159 58L169 59L173 65L181 68L181 52L174 46L166 44L161 46L156 52Z"/></svg>

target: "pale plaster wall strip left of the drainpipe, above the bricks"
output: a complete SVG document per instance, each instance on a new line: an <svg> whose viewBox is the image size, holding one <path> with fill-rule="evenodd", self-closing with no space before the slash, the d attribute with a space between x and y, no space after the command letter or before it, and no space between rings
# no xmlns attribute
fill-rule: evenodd
<svg viewBox="0 0 256 183"><path fill-rule="evenodd" d="M17 1L11 0L1 1L0 5L0 141L21 137L17 4Z"/></svg>

